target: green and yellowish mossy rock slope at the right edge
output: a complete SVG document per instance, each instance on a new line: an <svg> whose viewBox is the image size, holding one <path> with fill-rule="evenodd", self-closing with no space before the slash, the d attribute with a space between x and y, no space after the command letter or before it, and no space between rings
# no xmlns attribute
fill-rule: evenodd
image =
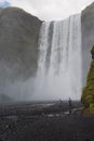
<svg viewBox="0 0 94 141"><path fill-rule="evenodd" d="M86 87L83 88L81 101L84 105L84 113L94 114L94 47L91 50L92 63L86 79Z"/></svg>

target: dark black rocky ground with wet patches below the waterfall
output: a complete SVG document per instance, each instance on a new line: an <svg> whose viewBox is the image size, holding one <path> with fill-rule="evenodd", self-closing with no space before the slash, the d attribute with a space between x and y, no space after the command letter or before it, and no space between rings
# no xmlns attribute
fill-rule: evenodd
<svg viewBox="0 0 94 141"><path fill-rule="evenodd" d="M0 141L94 141L94 117L82 116L79 104L71 114L63 105L1 106Z"/></svg>

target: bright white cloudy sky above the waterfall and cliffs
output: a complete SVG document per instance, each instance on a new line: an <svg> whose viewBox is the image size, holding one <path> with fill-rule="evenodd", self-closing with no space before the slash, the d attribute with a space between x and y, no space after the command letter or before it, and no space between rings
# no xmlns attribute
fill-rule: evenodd
<svg viewBox="0 0 94 141"><path fill-rule="evenodd" d="M4 1L4 0L0 0ZM80 13L94 0L6 0L13 7L25 11L44 21L63 20L71 14Z"/></svg>

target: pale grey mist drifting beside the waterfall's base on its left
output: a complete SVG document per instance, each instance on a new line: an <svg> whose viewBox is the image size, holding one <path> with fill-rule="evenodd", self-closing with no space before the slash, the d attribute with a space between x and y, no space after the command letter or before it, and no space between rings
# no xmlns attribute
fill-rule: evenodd
<svg viewBox="0 0 94 141"><path fill-rule="evenodd" d="M26 76L26 75L25 75ZM8 64L0 61L0 102L27 101L31 100L35 88L35 78L24 78L18 73L16 64ZM4 97L4 99L3 99ZM9 101L10 100L10 101Z"/></svg>

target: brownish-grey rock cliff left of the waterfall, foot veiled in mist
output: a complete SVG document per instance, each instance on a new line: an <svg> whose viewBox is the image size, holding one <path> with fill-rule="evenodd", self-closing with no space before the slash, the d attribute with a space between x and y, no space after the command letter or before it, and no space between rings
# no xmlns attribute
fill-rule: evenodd
<svg viewBox="0 0 94 141"><path fill-rule="evenodd" d="M2 95L3 102L28 98L28 85L33 81L27 79L33 78L38 64L40 26L40 20L22 9L0 9L0 102Z"/></svg>

